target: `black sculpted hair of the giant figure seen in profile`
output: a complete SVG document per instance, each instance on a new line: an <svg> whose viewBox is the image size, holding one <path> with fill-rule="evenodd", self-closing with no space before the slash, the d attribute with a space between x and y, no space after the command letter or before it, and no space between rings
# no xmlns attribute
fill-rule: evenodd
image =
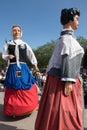
<svg viewBox="0 0 87 130"><path fill-rule="evenodd" d="M61 17L60 17L61 24L65 25L70 20L73 21L74 17L76 15L80 16L80 10L77 9L77 8L69 8L69 9L65 8L65 9L62 9L62 11L61 11Z"/></svg>

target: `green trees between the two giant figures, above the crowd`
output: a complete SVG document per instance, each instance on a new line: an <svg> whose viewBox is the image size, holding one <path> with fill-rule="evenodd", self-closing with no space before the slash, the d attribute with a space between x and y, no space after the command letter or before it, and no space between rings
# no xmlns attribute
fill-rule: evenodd
<svg viewBox="0 0 87 130"><path fill-rule="evenodd" d="M49 59L52 55L55 46L55 41L48 42L47 44L33 50L38 61L39 68L46 68Z"/></svg>

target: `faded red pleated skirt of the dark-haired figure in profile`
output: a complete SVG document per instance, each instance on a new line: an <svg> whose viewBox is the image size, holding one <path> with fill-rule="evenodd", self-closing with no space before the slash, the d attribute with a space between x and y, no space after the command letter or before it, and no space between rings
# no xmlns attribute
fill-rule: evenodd
<svg viewBox="0 0 87 130"><path fill-rule="evenodd" d="M78 79L69 96L60 78L47 77L35 122L35 130L82 130L82 85Z"/></svg>

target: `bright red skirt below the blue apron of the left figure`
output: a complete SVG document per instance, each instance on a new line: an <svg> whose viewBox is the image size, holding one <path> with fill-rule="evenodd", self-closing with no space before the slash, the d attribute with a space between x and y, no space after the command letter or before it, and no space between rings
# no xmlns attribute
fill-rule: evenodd
<svg viewBox="0 0 87 130"><path fill-rule="evenodd" d="M37 88L34 84L27 90L5 89L4 114L25 115L31 113L38 107Z"/></svg>

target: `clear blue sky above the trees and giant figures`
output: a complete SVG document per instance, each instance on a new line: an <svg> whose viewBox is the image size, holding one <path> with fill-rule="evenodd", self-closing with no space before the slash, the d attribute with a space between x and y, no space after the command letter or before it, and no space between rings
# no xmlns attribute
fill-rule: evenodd
<svg viewBox="0 0 87 130"><path fill-rule="evenodd" d="M79 8L79 28L76 36L87 38L87 0L0 0L0 52L5 40L12 40L11 27L22 27L22 40L32 49L56 40L62 29L63 8Z"/></svg>

